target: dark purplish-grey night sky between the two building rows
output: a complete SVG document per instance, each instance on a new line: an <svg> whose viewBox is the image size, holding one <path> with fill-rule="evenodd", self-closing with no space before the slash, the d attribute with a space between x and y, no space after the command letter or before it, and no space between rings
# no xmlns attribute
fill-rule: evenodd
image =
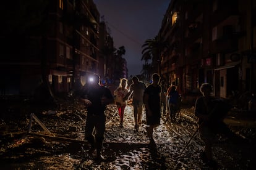
<svg viewBox="0 0 256 170"><path fill-rule="evenodd" d="M154 38L171 0L94 0L101 19L110 28L114 46L126 48L124 58L130 75L142 70L142 44ZM104 16L104 17L102 17Z"/></svg>

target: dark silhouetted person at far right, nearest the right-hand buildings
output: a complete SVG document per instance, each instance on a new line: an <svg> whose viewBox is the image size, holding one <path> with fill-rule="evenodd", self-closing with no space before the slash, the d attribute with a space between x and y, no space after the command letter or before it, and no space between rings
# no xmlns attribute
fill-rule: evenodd
<svg viewBox="0 0 256 170"><path fill-rule="evenodd" d="M213 160L213 142L216 141L216 134L224 134L229 139L241 140L236 136L226 124L223 123L224 117L230 110L231 105L223 99L218 99L211 95L213 91L211 84L203 83L200 86L202 97L195 102L195 116L198 118L198 131L200 138L205 143L205 148L200 157L203 163L216 167L217 163Z"/></svg>

